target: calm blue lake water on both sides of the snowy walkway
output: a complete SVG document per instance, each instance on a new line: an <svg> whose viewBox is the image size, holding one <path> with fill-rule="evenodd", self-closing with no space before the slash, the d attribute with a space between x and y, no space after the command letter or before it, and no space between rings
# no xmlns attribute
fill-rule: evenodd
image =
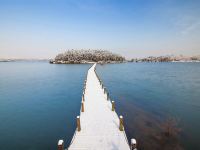
<svg viewBox="0 0 200 150"><path fill-rule="evenodd" d="M0 63L0 149L55 150L60 138L68 145L90 66ZM97 72L124 116L128 139L158 148L166 120L173 120L180 132L168 142L200 149L200 63L109 64Z"/></svg>

